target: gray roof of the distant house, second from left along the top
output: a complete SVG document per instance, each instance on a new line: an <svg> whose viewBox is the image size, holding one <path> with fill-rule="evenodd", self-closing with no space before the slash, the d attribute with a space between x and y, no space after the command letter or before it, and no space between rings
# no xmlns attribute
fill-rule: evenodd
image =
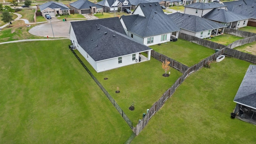
<svg viewBox="0 0 256 144"><path fill-rule="evenodd" d="M96 6L96 8L103 8L103 6L94 4L93 2L90 2L89 0L78 0L76 2L72 2L69 5L73 6L74 8L77 8L79 10L90 9L92 6Z"/></svg>

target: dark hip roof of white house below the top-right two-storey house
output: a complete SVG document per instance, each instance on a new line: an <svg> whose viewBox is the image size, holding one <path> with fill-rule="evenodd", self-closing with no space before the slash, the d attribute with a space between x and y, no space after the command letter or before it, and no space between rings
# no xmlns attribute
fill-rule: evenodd
<svg viewBox="0 0 256 144"><path fill-rule="evenodd" d="M214 20L217 22L224 22L224 23L249 19L247 16L243 16L241 14L235 14L234 12L220 9L220 8L215 8L211 10L206 15L204 15L203 18L206 18L208 20Z"/></svg>

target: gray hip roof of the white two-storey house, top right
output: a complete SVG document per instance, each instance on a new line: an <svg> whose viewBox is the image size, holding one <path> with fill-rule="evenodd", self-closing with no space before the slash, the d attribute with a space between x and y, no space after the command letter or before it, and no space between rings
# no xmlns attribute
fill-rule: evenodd
<svg viewBox="0 0 256 144"><path fill-rule="evenodd" d="M184 7L187 8L197 8L200 10L206 10L206 9L211 9L211 8L220 8L220 7L225 7L226 5L220 4L218 2L209 2L209 3L203 3L203 2L196 2L193 4L186 5Z"/></svg>

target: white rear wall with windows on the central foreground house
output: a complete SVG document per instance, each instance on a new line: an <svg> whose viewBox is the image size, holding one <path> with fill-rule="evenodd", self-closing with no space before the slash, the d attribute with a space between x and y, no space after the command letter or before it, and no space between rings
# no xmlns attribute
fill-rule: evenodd
<svg viewBox="0 0 256 144"><path fill-rule="evenodd" d="M139 54L136 53L136 58L135 60L132 60L132 54L126 55L126 56L121 56L122 57L122 64L118 64L118 57L117 58L111 58L108 60L102 60L99 62L96 62L97 64L97 69L96 72L104 72L106 70L111 70L114 68L119 68L122 66L127 66L130 64L135 64L137 62L139 62ZM137 62L136 62L137 59Z"/></svg>

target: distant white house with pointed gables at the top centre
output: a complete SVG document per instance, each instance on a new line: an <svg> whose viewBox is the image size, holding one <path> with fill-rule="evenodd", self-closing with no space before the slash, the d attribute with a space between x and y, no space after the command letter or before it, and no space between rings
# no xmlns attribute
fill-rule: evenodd
<svg viewBox="0 0 256 144"><path fill-rule="evenodd" d="M125 8L131 10L132 5L129 0L102 0L97 3L100 6L103 6L104 12L117 12L124 11Z"/></svg>

